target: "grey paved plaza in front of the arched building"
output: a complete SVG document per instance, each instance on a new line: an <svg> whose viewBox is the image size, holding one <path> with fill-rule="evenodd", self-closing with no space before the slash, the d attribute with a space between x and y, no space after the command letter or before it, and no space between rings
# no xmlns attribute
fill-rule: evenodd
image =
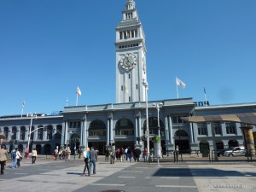
<svg viewBox="0 0 256 192"><path fill-rule="evenodd" d="M7 163L10 166L11 162ZM98 192L207 192L256 191L256 162L207 161L116 162L100 156L96 175L81 176L83 160L52 160L41 156L36 164L22 160L17 169L6 167L0 176L0 191Z"/></svg>

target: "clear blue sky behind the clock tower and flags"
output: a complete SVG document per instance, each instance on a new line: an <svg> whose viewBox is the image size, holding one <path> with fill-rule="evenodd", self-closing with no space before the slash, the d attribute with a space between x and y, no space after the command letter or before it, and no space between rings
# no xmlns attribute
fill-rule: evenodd
<svg viewBox="0 0 256 192"><path fill-rule="evenodd" d="M126 0L0 0L0 116L115 103L115 27ZM256 102L255 0L135 0L148 100ZM68 98L68 102L66 100Z"/></svg>

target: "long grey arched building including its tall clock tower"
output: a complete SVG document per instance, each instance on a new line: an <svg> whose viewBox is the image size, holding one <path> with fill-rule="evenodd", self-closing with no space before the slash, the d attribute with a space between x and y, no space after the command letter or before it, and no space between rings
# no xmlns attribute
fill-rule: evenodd
<svg viewBox="0 0 256 192"><path fill-rule="evenodd" d="M211 150L211 124L186 123L181 117L254 112L256 103L197 107L192 98L146 101L147 49L143 26L132 0L125 3L122 15L116 26L116 103L65 107L55 115L2 116L0 131L7 138L1 143L7 144L9 152L15 147L25 151L29 146L30 150L37 148L38 154L51 154L57 147L70 147L73 153L78 148L95 146L103 154L113 143L116 148L145 148L147 116L150 148L153 147L151 138L160 132L164 153ZM160 103L158 111L155 106ZM217 148L243 145L240 127L234 122L215 123Z"/></svg>

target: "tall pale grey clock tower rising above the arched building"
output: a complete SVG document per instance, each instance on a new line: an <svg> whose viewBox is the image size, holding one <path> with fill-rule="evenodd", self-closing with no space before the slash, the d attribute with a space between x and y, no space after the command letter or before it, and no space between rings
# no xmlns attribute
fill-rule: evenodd
<svg viewBox="0 0 256 192"><path fill-rule="evenodd" d="M122 14L123 19L116 26L116 102L145 102L147 49L133 0L125 3Z"/></svg>

